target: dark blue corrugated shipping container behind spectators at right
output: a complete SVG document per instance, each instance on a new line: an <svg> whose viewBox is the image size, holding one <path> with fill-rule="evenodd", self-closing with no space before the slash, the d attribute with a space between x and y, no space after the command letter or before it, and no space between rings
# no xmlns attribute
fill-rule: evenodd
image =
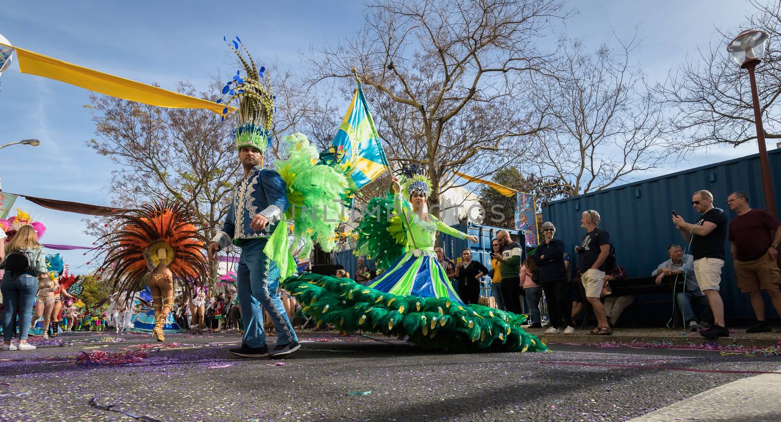
<svg viewBox="0 0 781 422"><path fill-rule="evenodd" d="M776 209L781 209L781 150L769 151L773 186L776 186ZM585 234L580 228L583 211L596 210L601 216L600 226L610 232L615 245L616 264L623 265L629 277L647 277L663 261L669 259L667 246L677 243L686 248L680 232L672 224L671 211L676 211L686 222L699 218L691 205L691 197L697 190L709 190L714 196L714 206L722 208L728 218L735 216L726 203L729 193L739 190L748 193L752 208L764 208L762 180L758 154L712 165L691 168L682 172L641 180L622 186L558 200L543 208L546 222L556 226L556 237L564 240L569 253L576 257L574 247ZM754 318L754 310L748 295L740 293L735 283L729 242L725 243L726 263L722 268L721 294L725 316L730 318ZM638 298L638 301L643 298ZM627 312L633 310L630 306ZM633 314L636 314L637 309ZM671 314L669 307L648 309L665 317ZM772 303L765 298L765 313L777 316Z"/></svg>

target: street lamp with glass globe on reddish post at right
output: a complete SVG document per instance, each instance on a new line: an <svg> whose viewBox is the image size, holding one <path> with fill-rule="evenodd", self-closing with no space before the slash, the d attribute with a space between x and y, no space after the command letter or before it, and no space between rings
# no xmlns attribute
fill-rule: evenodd
<svg viewBox="0 0 781 422"><path fill-rule="evenodd" d="M762 56L765 55L765 44L768 33L762 30L744 30L727 45L727 51L742 69L748 70L751 80L751 100L754 102L754 124L757 126L757 144L759 145L759 166L762 171L762 187L765 190L765 207L776 216L776 199L773 196L773 183L770 179L770 162L768 150L765 147L765 129L762 127L762 115L759 110L759 95L757 94L757 79L754 76Z"/></svg>

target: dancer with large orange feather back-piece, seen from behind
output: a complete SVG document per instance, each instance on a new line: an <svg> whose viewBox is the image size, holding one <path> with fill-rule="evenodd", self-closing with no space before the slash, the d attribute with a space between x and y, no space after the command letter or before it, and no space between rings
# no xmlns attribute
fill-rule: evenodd
<svg viewBox="0 0 781 422"><path fill-rule="evenodd" d="M158 202L113 215L110 224L121 229L102 238L105 260L98 272L113 280L114 290L125 292L126 300L148 283L155 306L152 334L160 342L173 307L174 278L198 286L209 280L205 238L191 223L194 219L184 204Z"/></svg>

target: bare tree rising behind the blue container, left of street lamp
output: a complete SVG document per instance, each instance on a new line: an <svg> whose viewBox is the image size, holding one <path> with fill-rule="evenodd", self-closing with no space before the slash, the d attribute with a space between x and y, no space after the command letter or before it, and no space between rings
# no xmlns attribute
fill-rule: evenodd
<svg viewBox="0 0 781 422"><path fill-rule="evenodd" d="M552 128L538 134L539 174L558 180L553 194L604 189L662 165L671 152L662 106L630 64L637 34L626 43L616 40L620 48L602 45L590 54L580 41L562 38L558 77L536 85L537 108L547 112Z"/></svg>

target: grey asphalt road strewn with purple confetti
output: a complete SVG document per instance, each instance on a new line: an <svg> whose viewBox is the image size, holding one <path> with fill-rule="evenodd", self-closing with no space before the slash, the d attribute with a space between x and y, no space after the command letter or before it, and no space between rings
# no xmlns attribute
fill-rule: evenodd
<svg viewBox="0 0 781 422"><path fill-rule="evenodd" d="M232 358L226 343L237 335L167 335L152 346L169 349L134 363L74 363L83 352L137 351L151 340L96 342L104 336L116 337L61 335L75 342L0 352L0 420L629 420L755 375L724 371L781 370L781 357L699 350L443 354L333 334L300 335L301 350L279 361ZM99 410L91 399L116 407Z"/></svg>

